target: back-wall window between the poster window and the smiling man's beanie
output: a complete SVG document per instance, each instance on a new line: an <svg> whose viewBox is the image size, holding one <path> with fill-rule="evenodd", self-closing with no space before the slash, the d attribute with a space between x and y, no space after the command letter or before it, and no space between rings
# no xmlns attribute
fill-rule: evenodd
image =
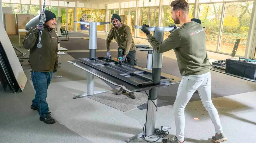
<svg viewBox="0 0 256 143"><path fill-rule="evenodd" d="M105 11L104 9L93 9L92 10L92 21L105 22ZM98 31L105 31L105 25L98 25Z"/></svg>

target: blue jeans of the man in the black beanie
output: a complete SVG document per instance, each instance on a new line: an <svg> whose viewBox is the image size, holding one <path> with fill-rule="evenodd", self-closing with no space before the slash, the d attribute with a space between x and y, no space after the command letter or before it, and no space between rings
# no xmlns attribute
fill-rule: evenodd
<svg viewBox="0 0 256 143"><path fill-rule="evenodd" d="M53 71L51 72L36 72L30 71L31 79L36 90L35 99L32 100L32 104L39 109L39 115L45 116L49 112L49 107L46 102L47 89L51 82Z"/></svg>

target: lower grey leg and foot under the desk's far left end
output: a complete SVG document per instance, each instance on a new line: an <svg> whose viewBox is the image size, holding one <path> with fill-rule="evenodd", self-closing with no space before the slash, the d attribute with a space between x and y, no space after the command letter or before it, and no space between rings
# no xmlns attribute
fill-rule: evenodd
<svg viewBox="0 0 256 143"><path fill-rule="evenodd" d="M107 91L94 91L94 75L91 73L87 72L87 92L80 94L78 96L74 96L73 99L80 98L83 96L88 96L88 95L94 95L94 94L99 94Z"/></svg>

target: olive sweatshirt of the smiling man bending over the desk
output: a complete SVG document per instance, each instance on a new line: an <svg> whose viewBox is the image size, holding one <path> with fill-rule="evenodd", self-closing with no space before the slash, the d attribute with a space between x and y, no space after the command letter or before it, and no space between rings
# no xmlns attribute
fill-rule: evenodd
<svg viewBox="0 0 256 143"><path fill-rule="evenodd" d="M121 24L122 26L120 29L116 29L115 27L111 28L106 39L106 47L107 50L110 51L110 42L114 38L119 48L125 51L124 55L127 55L129 51L135 50L135 44L130 27L123 23Z"/></svg>

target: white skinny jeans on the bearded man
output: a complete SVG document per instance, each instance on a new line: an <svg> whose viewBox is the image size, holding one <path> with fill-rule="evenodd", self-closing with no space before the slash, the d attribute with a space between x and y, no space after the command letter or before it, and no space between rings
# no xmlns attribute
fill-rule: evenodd
<svg viewBox="0 0 256 143"><path fill-rule="evenodd" d="M208 111L212 123L214 124L216 133L222 133L222 126L220 124L218 111L212 104L211 100L211 73L208 72L202 75L188 75L182 77L179 84L177 97L174 102L176 136L179 141L184 140L184 110L196 90L199 92L203 106Z"/></svg>

